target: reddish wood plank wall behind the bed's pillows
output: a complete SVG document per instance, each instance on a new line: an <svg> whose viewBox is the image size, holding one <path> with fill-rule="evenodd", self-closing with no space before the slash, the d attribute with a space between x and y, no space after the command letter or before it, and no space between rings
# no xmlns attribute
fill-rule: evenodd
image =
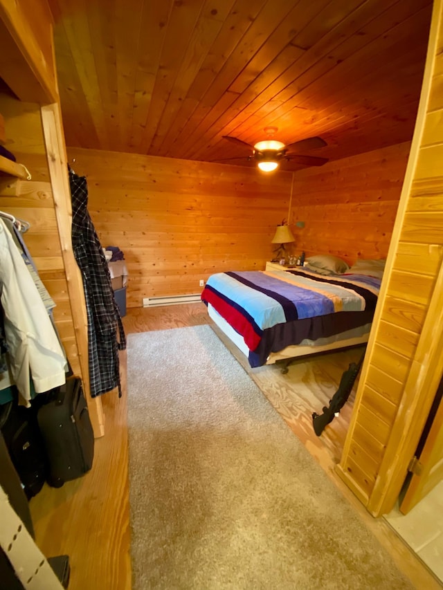
<svg viewBox="0 0 443 590"><path fill-rule="evenodd" d="M296 172L290 218L296 250L348 264L386 258L409 149L410 142L401 143Z"/></svg>

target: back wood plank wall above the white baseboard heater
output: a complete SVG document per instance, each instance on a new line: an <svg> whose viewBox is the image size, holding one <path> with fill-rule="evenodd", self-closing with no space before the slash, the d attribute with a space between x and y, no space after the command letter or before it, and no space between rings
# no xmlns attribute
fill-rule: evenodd
<svg viewBox="0 0 443 590"><path fill-rule="evenodd" d="M102 246L125 254L129 307L199 293L212 273L263 270L287 219L289 172L87 149L68 148L68 156L87 176Z"/></svg>

